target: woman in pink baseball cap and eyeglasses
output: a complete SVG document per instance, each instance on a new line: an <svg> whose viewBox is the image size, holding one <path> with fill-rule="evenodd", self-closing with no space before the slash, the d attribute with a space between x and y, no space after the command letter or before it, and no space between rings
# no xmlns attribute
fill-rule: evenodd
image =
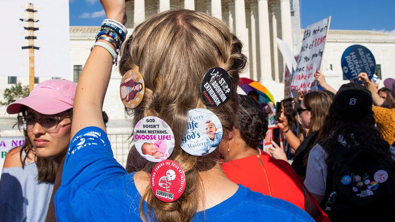
<svg viewBox="0 0 395 222"><path fill-rule="evenodd" d="M71 81L51 79L8 105L9 114L20 114L25 143L4 160L0 221L45 221L55 180L60 185L58 167L70 144L75 88Z"/></svg>

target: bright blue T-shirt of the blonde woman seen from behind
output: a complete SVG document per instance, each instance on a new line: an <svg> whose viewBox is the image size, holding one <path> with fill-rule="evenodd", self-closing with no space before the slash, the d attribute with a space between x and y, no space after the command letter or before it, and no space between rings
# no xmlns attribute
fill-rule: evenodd
<svg viewBox="0 0 395 222"><path fill-rule="evenodd" d="M141 221L134 173L113 157L103 130L87 127L73 137L55 195L56 219L62 221ZM146 212L147 203L144 202ZM195 214L193 221L314 221L289 202L239 185L222 203ZM154 220L155 221L155 220Z"/></svg>

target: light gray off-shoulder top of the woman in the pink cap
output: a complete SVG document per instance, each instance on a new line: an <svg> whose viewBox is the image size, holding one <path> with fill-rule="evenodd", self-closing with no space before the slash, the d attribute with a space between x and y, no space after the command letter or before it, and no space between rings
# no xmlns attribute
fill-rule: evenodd
<svg viewBox="0 0 395 222"><path fill-rule="evenodd" d="M0 222L44 222L53 183L37 181L36 163L3 168L0 179Z"/></svg>

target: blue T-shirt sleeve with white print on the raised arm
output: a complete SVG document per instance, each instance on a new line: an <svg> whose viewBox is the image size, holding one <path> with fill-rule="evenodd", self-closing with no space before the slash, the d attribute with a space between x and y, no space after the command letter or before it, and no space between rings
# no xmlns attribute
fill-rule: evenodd
<svg viewBox="0 0 395 222"><path fill-rule="evenodd" d="M86 127L71 140L64 161L62 186L74 183L90 190L101 182L126 174L115 160L107 134L98 127Z"/></svg>

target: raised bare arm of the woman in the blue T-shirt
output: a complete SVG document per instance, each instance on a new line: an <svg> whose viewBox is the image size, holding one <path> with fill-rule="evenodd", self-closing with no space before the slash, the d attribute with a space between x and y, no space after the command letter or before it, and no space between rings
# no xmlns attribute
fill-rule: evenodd
<svg viewBox="0 0 395 222"><path fill-rule="evenodd" d="M100 3L108 19L126 23L125 0L100 0ZM109 45L113 50L116 48L116 45L109 41L98 40L98 42ZM71 138L87 126L97 126L105 131L102 108L112 67L113 56L109 51L100 46L93 47L75 92Z"/></svg>

